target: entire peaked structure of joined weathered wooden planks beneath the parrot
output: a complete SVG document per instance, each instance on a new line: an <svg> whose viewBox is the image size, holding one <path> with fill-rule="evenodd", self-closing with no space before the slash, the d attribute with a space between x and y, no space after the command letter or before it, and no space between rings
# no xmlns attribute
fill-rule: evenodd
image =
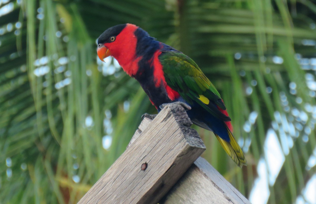
<svg viewBox="0 0 316 204"><path fill-rule="evenodd" d="M191 124L175 104L144 118L126 151L78 203L250 203L199 158L205 146Z"/></svg>

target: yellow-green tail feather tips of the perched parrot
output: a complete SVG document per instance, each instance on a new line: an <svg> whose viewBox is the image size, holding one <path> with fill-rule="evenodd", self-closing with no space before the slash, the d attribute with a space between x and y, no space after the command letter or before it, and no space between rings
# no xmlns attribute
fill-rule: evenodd
<svg viewBox="0 0 316 204"><path fill-rule="evenodd" d="M217 140L221 143L222 147L226 151L226 153L234 160L234 162L241 168L243 165L247 165L247 161L244 153L236 142L233 134L227 128L227 133L230 141L223 140L220 136L216 135Z"/></svg>

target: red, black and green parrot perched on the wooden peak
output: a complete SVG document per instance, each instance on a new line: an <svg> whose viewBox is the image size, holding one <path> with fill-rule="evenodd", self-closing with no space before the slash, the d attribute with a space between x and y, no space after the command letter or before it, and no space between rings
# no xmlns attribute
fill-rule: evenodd
<svg viewBox="0 0 316 204"><path fill-rule="evenodd" d="M158 112L165 104L179 103L193 124L214 133L236 165L247 165L219 92L190 57L130 23L106 29L97 39L97 54L103 62L115 58Z"/></svg>

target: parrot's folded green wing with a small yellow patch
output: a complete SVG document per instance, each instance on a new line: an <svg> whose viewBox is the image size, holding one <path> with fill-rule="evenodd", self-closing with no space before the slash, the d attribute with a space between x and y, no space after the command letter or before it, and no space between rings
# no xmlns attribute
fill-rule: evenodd
<svg viewBox="0 0 316 204"><path fill-rule="evenodd" d="M226 110L214 85L190 57L181 52L166 51L161 53L159 60L168 86L177 91L183 99L189 104L197 102L223 121L231 120L217 108L216 105Z"/></svg>

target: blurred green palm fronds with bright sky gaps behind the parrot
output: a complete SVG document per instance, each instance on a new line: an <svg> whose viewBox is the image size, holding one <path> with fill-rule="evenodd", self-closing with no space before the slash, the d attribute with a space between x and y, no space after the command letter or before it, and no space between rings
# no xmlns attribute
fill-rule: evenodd
<svg viewBox="0 0 316 204"><path fill-rule="evenodd" d="M221 93L248 165L197 128L210 164L253 203L312 203L315 19L313 0L0 0L0 203L76 203L156 112L97 60L98 36L127 22Z"/></svg>

